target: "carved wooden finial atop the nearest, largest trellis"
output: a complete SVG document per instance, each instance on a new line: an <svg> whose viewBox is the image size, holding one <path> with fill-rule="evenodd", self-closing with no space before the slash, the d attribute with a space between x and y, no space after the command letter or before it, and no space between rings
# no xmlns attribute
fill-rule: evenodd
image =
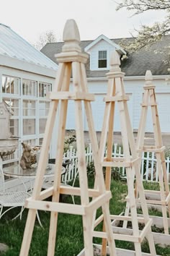
<svg viewBox="0 0 170 256"><path fill-rule="evenodd" d="M63 30L63 51L79 51L81 52L80 34L75 20L67 20Z"/></svg>

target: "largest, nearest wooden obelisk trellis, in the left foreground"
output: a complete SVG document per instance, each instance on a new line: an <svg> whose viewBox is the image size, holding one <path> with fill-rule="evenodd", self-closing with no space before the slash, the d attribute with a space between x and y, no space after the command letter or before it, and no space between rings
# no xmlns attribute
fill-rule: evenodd
<svg viewBox="0 0 170 256"><path fill-rule="evenodd" d="M102 174L102 165L99 162L99 148L97 144L97 135L94 131L94 122L91 112L91 101L94 101L94 95L88 92L86 86L86 72L84 64L88 59L87 54L81 53L79 46L79 30L74 20L66 22L63 31L63 40L65 41L62 53L57 55L59 67L55 80L55 88L50 93L52 100L50 112L48 115L47 125L45 127L45 137L42 143L40 153L40 161L37 168L37 176L35 179L35 187L32 197L27 200L26 207L29 208L27 223L24 230L24 237L20 256L27 256L30 249L32 239L32 231L35 225L36 210L50 211L50 231L48 239L48 256L54 255L55 238L57 231L58 213L70 213L81 215L83 218L84 230L84 248L85 255L93 255L93 236L94 229L94 213L97 208L102 207L104 215L104 225L107 230L107 239L109 241L109 250L111 255L116 255L115 240L113 239L112 228L109 218L109 199L111 192L105 189L104 177ZM69 91L71 82L71 70L73 74L73 92ZM68 110L68 100L75 103L76 116L76 142L78 155L79 183L80 187L62 187L61 186L61 166L63 161L63 143L66 129L66 114ZM41 192L43 175L45 173L45 165L48 159L48 148L50 145L51 134L55 121L55 114L60 106L60 117L58 126L58 142L57 153L55 158L55 178L53 187L45 189ZM81 101L84 101L86 118L89 125L89 135L93 148L94 166L96 170L96 187L89 189L86 175L86 157L84 150L84 129L82 120ZM59 202L60 194L79 195L81 197L81 205L71 205ZM47 197L52 196L52 202L45 201ZM89 200L92 197L93 200Z"/></svg>

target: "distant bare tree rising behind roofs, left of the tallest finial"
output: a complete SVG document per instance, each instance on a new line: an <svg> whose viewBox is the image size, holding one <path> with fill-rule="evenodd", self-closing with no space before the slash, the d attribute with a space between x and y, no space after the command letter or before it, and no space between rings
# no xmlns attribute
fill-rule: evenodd
<svg viewBox="0 0 170 256"><path fill-rule="evenodd" d="M37 50L42 49L43 46L45 46L46 43L55 43L57 39L55 38L55 34L52 30L47 30L45 33L42 33L40 35L39 40L34 44L35 48Z"/></svg>

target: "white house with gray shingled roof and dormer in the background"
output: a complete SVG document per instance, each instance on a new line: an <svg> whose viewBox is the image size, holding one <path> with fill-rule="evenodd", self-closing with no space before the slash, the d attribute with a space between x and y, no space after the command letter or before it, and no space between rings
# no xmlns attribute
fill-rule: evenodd
<svg viewBox="0 0 170 256"><path fill-rule="evenodd" d="M110 40L104 35L100 35L96 40L81 41L82 51L89 54L89 62L86 64L86 76L88 88L95 95L95 101L92 102L94 124L96 131L101 131L104 115L104 94L107 92L107 77L109 71L109 56L113 50L116 50L121 57L127 54L128 59L121 60L122 72L125 72L125 92L130 96L128 107L133 131L138 130L140 119L140 103L143 97L143 85L145 84L146 70L150 69L153 74L153 83L156 85L156 99L158 102L158 114L161 123L161 132L168 134L170 132L170 73L169 54L166 46L170 44L170 37L166 36L158 43L155 43L148 50L142 49L136 53L128 54L125 49L119 46L120 40ZM126 38L127 41L133 38ZM52 59L56 64L55 54L61 52L63 42L47 43L42 48L42 53ZM160 54L155 51L160 50ZM67 129L74 129L74 108L70 103ZM148 113L146 132L153 132L150 121L151 113ZM87 130L87 124L84 117L84 131ZM116 110L115 131L120 131L119 116Z"/></svg>

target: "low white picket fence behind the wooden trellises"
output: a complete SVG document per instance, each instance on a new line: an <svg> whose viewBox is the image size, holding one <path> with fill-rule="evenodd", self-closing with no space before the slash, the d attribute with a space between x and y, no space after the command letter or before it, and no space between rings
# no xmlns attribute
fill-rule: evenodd
<svg viewBox="0 0 170 256"><path fill-rule="evenodd" d="M92 155L92 148L91 144L89 144L89 147L85 150L86 154L86 166L93 161L93 155ZM113 154L114 157L123 157L122 148L118 146L117 144L114 145ZM69 150L67 150L66 153L64 153L64 157L70 159L72 163L68 166L68 170L66 171L66 174L62 177L62 182L68 183L73 179L76 179L77 176L77 166L78 166L78 159L76 154L76 149L73 147L70 147ZM158 168L156 168L156 156L154 153L143 153L142 155L142 163L141 163L141 177L143 180L151 181L151 182L158 182L158 171L156 171ZM124 177L126 177L125 168L116 168L117 171L120 172L120 174ZM170 159L166 158L166 170L167 170L167 176L170 178ZM169 179L170 180L170 179Z"/></svg>

